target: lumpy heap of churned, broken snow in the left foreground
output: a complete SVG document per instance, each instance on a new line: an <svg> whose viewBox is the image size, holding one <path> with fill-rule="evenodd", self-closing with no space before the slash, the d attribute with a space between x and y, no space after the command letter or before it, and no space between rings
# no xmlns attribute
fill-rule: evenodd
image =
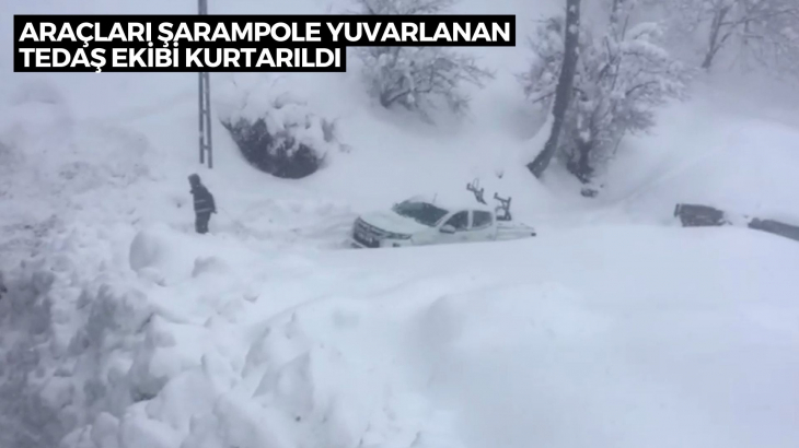
<svg viewBox="0 0 799 448"><path fill-rule="evenodd" d="M259 298L230 276L211 279L222 290L215 294L201 278L227 271L208 266L242 258L234 251L209 262L201 255L219 241L189 245L164 227L136 235L129 260L139 274L165 273L167 282L136 280L124 269L97 278L109 257L82 249L92 236L58 233L51 245L69 250L14 271L9 299L0 303L14 329L3 334L13 342L4 344L4 410L24 416L30 411L13 406L37 403L31 411L50 422L19 422L24 431L4 433L9 443L26 446L35 434L48 446L66 435L65 447L432 447L442 439L460 447L445 414L389 380L395 359L344 343L382 325L367 318L364 304L331 299L276 314L324 290L308 275L296 276L290 285L303 287L283 288L282 298ZM89 255L93 264L78 263ZM281 263L288 275L303 266ZM38 354L22 362L36 346ZM44 375L24 375L34 370Z"/></svg>

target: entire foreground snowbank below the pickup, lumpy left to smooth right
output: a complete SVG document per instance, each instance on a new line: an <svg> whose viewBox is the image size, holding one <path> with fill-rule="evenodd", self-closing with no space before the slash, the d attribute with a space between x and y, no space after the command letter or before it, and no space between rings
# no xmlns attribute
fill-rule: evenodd
<svg viewBox="0 0 799 448"><path fill-rule="evenodd" d="M15 270L0 302L4 414L43 418L3 434L70 448L790 447L799 249L705 231L267 260L164 227L103 250L63 228L48 245L66 251ZM120 258L139 273L108 269Z"/></svg>

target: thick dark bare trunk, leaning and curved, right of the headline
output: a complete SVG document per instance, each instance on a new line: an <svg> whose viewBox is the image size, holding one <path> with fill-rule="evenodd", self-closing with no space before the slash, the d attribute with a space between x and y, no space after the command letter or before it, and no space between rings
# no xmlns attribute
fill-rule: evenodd
<svg viewBox="0 0 799 448"><path fill-rule="evenodd" d="M544 144L544 150L539 153L533 162L528 164L528 169L536 178L541 178L557 151L566 110L568 110L571 102L571 90L575 82L575 71L577 70L577 58L579 57L577 47L580 39L580 0L566 0L566 30L564 30L564 33L566 34L564 39L564 63L560 68L560 78L555 91L555 104L552 108L554 116L552 132Z"/></svg>

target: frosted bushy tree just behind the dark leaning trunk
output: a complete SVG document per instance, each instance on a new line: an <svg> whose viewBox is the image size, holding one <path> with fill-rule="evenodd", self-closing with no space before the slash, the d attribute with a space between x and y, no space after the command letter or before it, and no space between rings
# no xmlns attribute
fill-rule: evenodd
<svg viewBox="0 0 799 448"><path fill-rule="evenodd" d="M655 125L655 109L685 95L688 70L656 44L656 23L630 25L632 0L613 3L601 33L582 26L574 95L558 149L567 167L588 182L595 166L613 154L627 133ZM521 75L526 95L548 108L563 60L564 19L542 24L531 39L535 60Z"/></svg>

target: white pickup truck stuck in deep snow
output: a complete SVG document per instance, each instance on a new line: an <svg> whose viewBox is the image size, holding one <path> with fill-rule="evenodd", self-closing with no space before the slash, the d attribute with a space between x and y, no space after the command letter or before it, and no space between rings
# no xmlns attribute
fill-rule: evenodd
<svg viewBox="0 0 799 448"><path fill-rule="evenodd" d="M532 227L511 222L510 200L497 196L495 199L502 205L493 210L479 203L451 207L421 197L410 198L390 211L359 216L352 226L351 245L358 248L405 247L535 236Z"/></svg>

